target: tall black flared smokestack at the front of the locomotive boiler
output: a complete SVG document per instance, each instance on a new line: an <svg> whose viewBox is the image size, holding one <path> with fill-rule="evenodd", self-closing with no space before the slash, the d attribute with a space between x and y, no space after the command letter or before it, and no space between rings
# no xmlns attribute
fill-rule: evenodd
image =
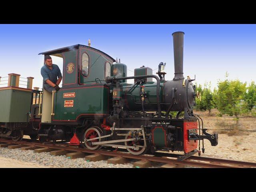
<svg viewBox="0 0 256 192"><path fill-rule="evenodd" d="M172 34L174 52L174 78L173 80L184 79L183 76L183 45L184 32L177 31Z"/></svg>

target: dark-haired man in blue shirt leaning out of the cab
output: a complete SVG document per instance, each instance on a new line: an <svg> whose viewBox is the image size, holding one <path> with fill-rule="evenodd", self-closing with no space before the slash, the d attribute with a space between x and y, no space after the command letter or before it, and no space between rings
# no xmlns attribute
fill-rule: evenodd
<svg viewBox="0 0 256 192"><path fill-rule="evenodd" d="M58 65L52 64L52 58L48 55L44 56L44 66L41 68L41 75L44 79L45 90L48 92L52 92L53 90L60 90L59 84L62 80L60 68Z"/></svg>

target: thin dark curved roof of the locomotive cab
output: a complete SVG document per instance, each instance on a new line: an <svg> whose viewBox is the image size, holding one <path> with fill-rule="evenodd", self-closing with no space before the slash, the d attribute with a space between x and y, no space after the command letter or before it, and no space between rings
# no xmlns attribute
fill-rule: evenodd
<svg viewBox="0 0 256 192"><path fill-rule="evenodd" d="M89 47L89 46L86 46L86 45L81 45L81 44L76 44L76 45L72 45L72 46L68 46L68 47L63 47L63 48L59 48L59 49L54 49L54 50L38 53L38 55L54 55L54 54L66 52L66 51L69 51L69 50L78 49L79 46L80 47L86 47L86 48L89 48L89 49L92 49L92 50L96 50L96 51L108 56L110 59L112 59L113 62L116 62L116 60L114 60L112 57L110 57L108 54L102 52L101 50L98 50L96 48ZM58 55L56 55L56 56L58 56Z"/></svg>

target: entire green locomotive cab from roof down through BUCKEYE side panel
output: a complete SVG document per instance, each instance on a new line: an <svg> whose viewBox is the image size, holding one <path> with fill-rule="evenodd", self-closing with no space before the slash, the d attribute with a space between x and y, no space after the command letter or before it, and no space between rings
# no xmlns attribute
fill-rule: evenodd
<svg viewBox="0 0 256 192"><path fill-rule="evenodd" d="M80 44L39 54L63 59L62 87L52 93L43 89L42 123L74 124L82 117L108 115L109 89L104 84L115 62L112 57Z"/></svg>

